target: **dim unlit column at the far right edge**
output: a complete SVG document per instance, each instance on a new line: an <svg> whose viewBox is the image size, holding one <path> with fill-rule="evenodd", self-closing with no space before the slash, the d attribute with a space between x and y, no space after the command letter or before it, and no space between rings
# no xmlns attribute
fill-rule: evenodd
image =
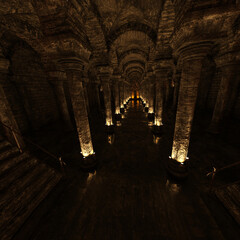
<svg viewBox="0 0 240 240"><path fill-rule="evenodd" d="M237 59L238 58L238 59ZM224 127L223 120L229 117L233 109L237 89L240 83L240 56L233 53L223 54L216 59L217 68L221 72L221 83L218 90L218 96L215 103L212 121L209 131L212 133L219 133Z"/></svg>

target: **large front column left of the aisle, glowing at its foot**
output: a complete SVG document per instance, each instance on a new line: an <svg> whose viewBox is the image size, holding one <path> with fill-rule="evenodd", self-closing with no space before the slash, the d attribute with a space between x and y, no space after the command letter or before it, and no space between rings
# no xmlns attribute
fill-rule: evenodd
<svg viewBox="0 0 240 240"><path fill-rule="evenodd" d="M84 96L82 78L83 62L80 59L71 58L61 59L59 62L62 64L67 74L78 140L83 155L83 164L86 166L95 165L95 153L92 145L87 106Z"/></svg>

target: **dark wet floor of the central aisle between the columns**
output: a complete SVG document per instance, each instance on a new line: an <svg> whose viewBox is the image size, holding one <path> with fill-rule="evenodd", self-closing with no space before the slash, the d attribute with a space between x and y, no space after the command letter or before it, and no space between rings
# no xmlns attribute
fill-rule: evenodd
<svg viewBox="0 0 240 240"><path fill-rule="evenodd" d="M168 177L171 146L154 143L139 101L128 104L114 141L105 138L100 167L60 182L15 240L227 239L194 181Z"/></svg>

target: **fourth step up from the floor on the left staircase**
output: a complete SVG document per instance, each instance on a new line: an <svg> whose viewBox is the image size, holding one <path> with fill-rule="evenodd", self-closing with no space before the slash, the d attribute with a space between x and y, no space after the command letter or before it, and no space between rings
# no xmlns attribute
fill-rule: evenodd
<svg viewBox="0 0 240 240"><path fill-rule="evenodd" d="M24 152L22 154L17 154L11 158L4 159L0 162L0 176L6 171L11 170L14 166L22 162L24 159L28 158L29 154Z"/></svg>

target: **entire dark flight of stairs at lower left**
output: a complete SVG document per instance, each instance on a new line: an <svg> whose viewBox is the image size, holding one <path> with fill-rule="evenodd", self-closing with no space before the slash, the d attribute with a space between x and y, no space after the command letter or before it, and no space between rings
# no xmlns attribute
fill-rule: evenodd
<svg viewBox="0 0 240 240"><path fill-rule="evenodd" d="M1 240L13 237L60 179L46 164L0 140Z"/></svg>

